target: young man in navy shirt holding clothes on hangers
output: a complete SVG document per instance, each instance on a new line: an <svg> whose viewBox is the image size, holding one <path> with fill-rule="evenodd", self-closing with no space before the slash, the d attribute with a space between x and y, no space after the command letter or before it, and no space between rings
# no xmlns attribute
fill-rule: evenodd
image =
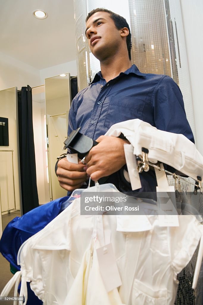
<svg viewBox="0 0 203 305"><path fill-rule="evenodd" d="M104 136L115 123L139 118L158 129L180 133L194 142L183 98L172 78L143 74L130 63L130 28L126 20L106 9L95 9L86 18L86 37L101 71L89 87L74 98L69 112L68 134L80 132L97 142L85 158L86 165L61 159L57 176L62 188L80 188L89 176L96 181L109 176L120 191L130 191L123 177L126 139ZM140 191L155 192L152 170L141 174Z"/></svg>

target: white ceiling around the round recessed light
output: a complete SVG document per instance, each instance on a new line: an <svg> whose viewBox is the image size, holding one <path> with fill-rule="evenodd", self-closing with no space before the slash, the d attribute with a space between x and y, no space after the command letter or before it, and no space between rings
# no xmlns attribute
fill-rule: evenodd
<svg viewBox="0 0 203 305"><path fill-rule="evenodd" d="M37 69L75 60L73 0L0 0L0 52Z"/></svg>

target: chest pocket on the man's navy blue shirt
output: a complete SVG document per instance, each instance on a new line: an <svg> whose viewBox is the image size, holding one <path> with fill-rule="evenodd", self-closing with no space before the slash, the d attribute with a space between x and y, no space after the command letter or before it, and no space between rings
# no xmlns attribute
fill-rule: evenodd
<svg viewBox="0 0 203 305"><path fill-rule="evenodd" d="M110 128L113 124L126 120L142 120L142 112L145 102L132 96L112 96L105 99L106 114L104 126Z"/></svg>

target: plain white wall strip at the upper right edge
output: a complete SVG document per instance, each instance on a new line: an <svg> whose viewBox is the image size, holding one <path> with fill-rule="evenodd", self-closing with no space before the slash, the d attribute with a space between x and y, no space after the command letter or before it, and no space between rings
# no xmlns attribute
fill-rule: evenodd
<svg viewBox="0 0 203 305"><path fill-rule="evenodd" d="M197 148L203 155L202 72L203 72L203 1L180 0L190 72Z"/></svg>

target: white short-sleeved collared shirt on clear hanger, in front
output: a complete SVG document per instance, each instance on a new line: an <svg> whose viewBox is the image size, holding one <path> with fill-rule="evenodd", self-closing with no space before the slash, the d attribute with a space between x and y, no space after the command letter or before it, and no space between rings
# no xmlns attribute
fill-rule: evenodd
<svg viewBox="0 0 203 305"><path fill-rule="evenodd" d="M23 289L26 290L25 284L28 281L44 305L65 305L66 300L71 300L69 305L95 305L95 300L101 305L108 304L105 303L106 300L111 305L119 304L112 303L115 293L120 304L174 303L178 286L176 275L190 261L202 236L202 226L194 216L178 216L179 227L160 227L158 216L144 215L142 217L145 218L146 227L142 227L141 231L139 215L124 216L122 223L120 216L88 216L79 213L80 199L76 199L44 229L21 246L18 254L22 272L21 295ZM104 245L104 232L110 227L111 242L122 281L119 290L114 289L110 295L104 293L103 285L94 285L101 282L99 269L94 267L97 266L94 259L95 251L92 267L88 265L91 259L88 253L93 239L95 217L98 240L95 247ZM134 222L133 232L129 232L129 228L126 229L126 217L130 220L129 223ZM106 223L108 228L105 226ZM89 272L87 265L90 268ZM77 289L74 287L78 287L80 302L75 294ZM99 289L103 291L102 294L98 294ZM24 293L26 294L26 291ZM111 300L112 294L114 296Z"/></svg>

